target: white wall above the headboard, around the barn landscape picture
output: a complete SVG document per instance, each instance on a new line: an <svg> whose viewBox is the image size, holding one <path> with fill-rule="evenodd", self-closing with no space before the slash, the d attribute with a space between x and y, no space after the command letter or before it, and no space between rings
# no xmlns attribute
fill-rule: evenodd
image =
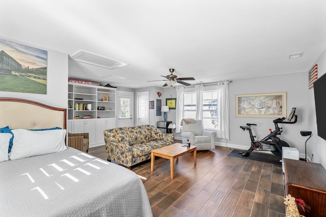
<svg viewBox="0 0 326 217"><path fill-rule="evenodd" d="M68 54L0 36L2 39L47 51L47 90L45 94L0 91L0 97L32 100L59 108L67 108ZM21 84L23 85L23 84Z"/></svg>

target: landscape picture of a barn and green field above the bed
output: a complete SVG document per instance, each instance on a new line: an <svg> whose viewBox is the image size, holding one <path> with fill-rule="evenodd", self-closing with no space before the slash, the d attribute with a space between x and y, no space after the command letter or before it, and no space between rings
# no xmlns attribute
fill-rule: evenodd
<svg viewBox="0 0 326 217"><path fill-rule="evenodd" d="M47 51L0 39L0 91L46 94Z"/></svg>

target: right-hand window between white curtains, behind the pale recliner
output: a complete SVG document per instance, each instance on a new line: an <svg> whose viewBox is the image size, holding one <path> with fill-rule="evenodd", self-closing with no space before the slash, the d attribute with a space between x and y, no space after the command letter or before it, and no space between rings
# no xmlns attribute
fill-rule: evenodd
<svg viewBox="0 0 326 217"><path fill-rule="evenodd" d="M205 91L203 94L203 125L205 129L216 129L218 122L218 92Z"/></svg>

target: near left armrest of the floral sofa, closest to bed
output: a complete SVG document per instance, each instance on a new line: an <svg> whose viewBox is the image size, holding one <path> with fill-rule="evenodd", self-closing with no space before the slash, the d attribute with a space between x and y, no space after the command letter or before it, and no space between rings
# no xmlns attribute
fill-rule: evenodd
<svg viewBox="0 0 326 217"><path fill-rule="evenodd" d="M126 167L130 167L132 163L132 149L130 145L124 143L108 143L105 142L107 160L117 162Z"/></svg>

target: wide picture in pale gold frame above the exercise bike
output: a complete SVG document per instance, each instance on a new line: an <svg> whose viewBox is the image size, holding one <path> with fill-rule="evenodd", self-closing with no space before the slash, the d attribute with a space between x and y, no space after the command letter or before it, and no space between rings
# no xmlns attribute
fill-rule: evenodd
<svg viewBox="0 0 326 217"><path fill-rule="evenodd" d="M235 96L236 117L286 117L286 92Z"/></svg>

